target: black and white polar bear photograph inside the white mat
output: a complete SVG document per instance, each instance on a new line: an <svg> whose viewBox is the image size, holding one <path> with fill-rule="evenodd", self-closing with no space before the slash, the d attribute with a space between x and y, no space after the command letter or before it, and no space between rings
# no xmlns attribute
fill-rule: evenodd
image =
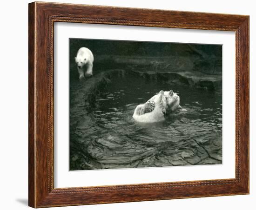
<svg viewBox="0 0 256 210"><path fill-rule="evenodd" d="M69 170L222 164L222 45L69 39Z"/></svg>

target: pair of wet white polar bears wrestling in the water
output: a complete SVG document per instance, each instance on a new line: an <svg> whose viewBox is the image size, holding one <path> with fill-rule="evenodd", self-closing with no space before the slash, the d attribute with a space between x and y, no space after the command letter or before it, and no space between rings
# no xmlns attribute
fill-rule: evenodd
<svg viewBox="0 0 256 210"><path fill-rule="evenodd" d="M163 121L166 114L181 109L180 97L177 93L172 90L160 91L145 104L138 105L133 118L142 123L155 123Z"/></svg>

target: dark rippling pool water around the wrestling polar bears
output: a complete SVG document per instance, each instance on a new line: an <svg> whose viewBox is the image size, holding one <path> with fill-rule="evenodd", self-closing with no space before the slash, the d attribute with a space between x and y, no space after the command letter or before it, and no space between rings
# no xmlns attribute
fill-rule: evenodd
<svg viewBox="0 0 256 210"><path fill-rule="evenodd" d="M186 112L151 124L132 118L138 104L170 89ZM112 78L81 115L81 83L70 90L71 98L80 96L70 103L70 170L222 164L221 92L126 75Z"/></svg>

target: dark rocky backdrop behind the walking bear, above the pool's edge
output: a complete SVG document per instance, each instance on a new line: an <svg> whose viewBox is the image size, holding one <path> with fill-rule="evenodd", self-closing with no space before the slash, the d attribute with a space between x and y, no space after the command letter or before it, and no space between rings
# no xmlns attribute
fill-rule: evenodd
<svg viewBox="0 0 256 210"><path fill-rule="evenodd" d="M69 44L71 78L78 76L74 57L83 46L94 54L94 74L127 69L222 75L222 45L101 39L69 39Z"/></svg>

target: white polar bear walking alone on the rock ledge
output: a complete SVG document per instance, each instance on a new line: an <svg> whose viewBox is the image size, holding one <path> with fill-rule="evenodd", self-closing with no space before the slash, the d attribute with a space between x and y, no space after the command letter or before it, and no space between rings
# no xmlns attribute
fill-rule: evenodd
<svg viewBox="0 0 256 210"><path fill-rule="evenodd" d="M94 55L92 51L86 47L81 47L77 51L76 57L74 59L77 65L79 79L91 77L93 75Z"/></svg>

